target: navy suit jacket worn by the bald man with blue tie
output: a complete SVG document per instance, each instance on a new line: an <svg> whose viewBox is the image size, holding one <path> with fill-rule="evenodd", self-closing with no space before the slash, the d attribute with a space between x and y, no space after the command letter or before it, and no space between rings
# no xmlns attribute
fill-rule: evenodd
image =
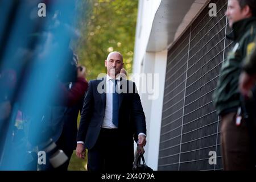
<svg viewBox="0 0 256 182"><path fill-rule="evenodd" d="M106 107L106 77L91 80L82 107L77 141L84 141L85 148L91 149L97 142L104 121ZM98 92L98 89L100 92ZM146 121L141 99L135 83L121 78L119 93L118 129L123 143L133 146L139 133L146 134ZM130 92L129 92L130 90ZM114 141L110 141L114 142Z"/></svg>

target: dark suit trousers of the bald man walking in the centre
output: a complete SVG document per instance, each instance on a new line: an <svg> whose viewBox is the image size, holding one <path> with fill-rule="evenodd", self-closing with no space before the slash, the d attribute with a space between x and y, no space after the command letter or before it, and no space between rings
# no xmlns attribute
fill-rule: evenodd
<svg viewBox="0 0 256 182"><path fill-rule="evenodd" d="M133 140L118 129L101 129L95 146L88 150L88 171L127 172L133 168Z"/></svg>

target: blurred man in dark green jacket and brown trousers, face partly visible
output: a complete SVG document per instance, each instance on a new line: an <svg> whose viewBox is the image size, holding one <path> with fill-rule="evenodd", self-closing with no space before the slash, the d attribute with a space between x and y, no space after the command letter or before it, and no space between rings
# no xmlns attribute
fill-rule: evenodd
<svg viewBox="0 0 256 182"><path fill-rule="evenodd" d="M222 65L214 106L221 118L221 147L224 170L245 170L254 167L251 162L249 134L241 117L238 80L242 60L256 34L256 0L229 0L226 15L233 29L227 38L234 41L227 60Z"/></svg>

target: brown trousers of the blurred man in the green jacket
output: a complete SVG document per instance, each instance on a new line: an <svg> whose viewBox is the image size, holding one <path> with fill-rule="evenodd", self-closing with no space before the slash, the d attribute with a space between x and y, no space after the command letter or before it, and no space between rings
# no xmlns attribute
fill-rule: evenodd
<svg viewBox="0 0 256 182"><path fill-rule="evenodd" d="M224 170L254 168L246 122L236 125L236 113L221 115L221 149Z"/></svg>

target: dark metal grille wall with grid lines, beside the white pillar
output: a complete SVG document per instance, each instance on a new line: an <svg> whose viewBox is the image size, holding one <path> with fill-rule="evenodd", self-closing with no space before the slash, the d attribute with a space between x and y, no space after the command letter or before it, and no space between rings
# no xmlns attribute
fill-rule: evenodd
<svg viewBox="0 0 256 182"><path fill-rule="evenodd" d="M232 43L225 11L228 1L216 3L217 17L208 6L168 51L159 170L221 169L220 125L213 107L218 74ZM209 164L209 152L217 164Z"/></svg>

